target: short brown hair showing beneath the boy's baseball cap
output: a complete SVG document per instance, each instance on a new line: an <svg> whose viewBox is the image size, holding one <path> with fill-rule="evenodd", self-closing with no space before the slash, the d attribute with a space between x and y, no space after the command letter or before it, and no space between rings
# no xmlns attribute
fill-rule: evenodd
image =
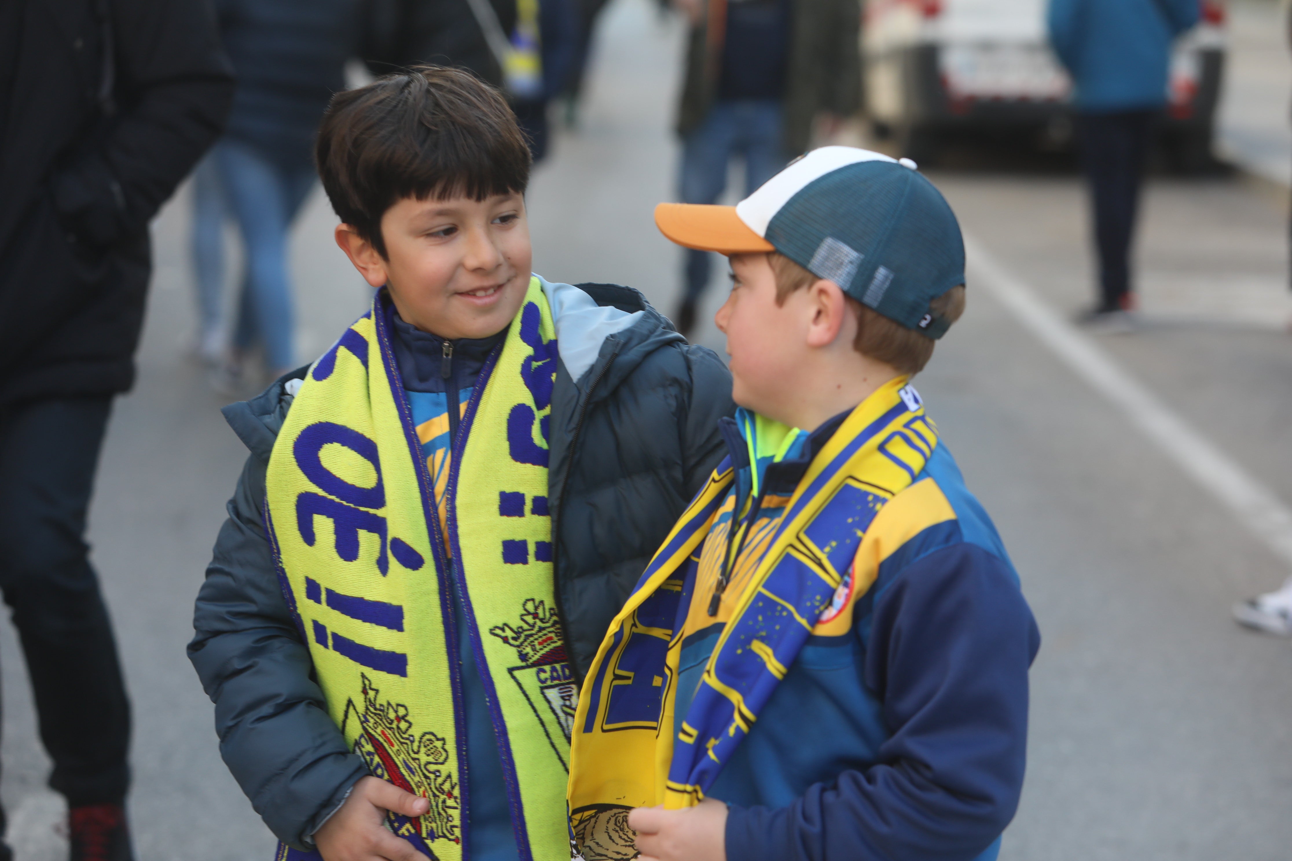
<svg viewBox="0 0 1292 861"><path fill-rule="evenodd" d="M784 305L795 290L815 284L818 278L784 254L767 254L771 272L776 276L776 305ZM929 336L907 329L879 311L866 307L851 296L844 294L848 306L857 315L857 337L853 349L863 356L891 365L904 374L917 374L933 358L937 343ZM929 314L955 323L965 311L964 284L929 302Z"/></svg>

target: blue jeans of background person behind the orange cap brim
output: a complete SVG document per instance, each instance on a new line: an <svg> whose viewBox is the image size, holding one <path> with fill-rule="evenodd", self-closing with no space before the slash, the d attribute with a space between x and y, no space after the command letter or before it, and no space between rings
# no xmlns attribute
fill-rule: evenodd
<svg viewBox="0 0 1292 861"><path fill-rule="evenodd" d="M727 161L744 159L744 194L786 167L780 102L717 102L682 145L682 203L712 204L726 190ZM709 284L713 256L686 249L686 299L696 301Z"/></svg>

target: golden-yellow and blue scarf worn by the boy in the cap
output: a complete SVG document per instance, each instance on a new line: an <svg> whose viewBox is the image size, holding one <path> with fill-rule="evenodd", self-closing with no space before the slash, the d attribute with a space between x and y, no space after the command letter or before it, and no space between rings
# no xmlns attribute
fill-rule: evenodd
<svg viewBox="0 0 1292 861"><path fill-rule="evenodd" d="M579 697L571 745L571 830L587 861L636 857L633 807L698 804L813 633L833 633L871 586L853 559L875 514L924 469L938 438L904 378L867 398L813 458L765 538L674 737L678 658L703 630L714 567L698 564L735 470L724 462L655 554L615 617ZM712 543L712 542L709 542ZM765 547L765 550L761 550ZM743 560L742 560L743 562ZM738 565L743 568L744 565ZM733 581L735 582L735 581ZM787 738L787 745L793 740Z"/></svg>

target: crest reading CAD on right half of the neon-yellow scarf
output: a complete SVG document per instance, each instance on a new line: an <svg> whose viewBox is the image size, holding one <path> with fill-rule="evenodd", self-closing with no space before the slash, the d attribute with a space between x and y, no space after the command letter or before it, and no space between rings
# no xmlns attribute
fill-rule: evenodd
<svg viewBox="0 0 1292 861"><path fill-rule="evenodd" d="M497 625L488 633L516 649L521 666L508 667L508 673L528 700L552 750L557 751L568 772L570 731L579 704L579 688L566 660L557 612L548 609L547 602L527 598L519 625ZM559 741L562 736L565 741Z"/></svg>

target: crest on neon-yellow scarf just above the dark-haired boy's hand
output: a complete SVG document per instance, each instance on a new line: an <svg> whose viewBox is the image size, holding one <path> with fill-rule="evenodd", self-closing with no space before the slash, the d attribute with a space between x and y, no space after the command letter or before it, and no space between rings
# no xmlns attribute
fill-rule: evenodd
<svg viewBox="0 0 1292 861"><path fill-rule="evenodd" d="M350 722L359 722L362 731L354 740L354 753L363 758L373 776L430 800L430 809L421 817L406 820L391 815L391 827L403 836L412 836L404 833L412 829L426 843L461 843L457 780L444 768L448 762L444 740L433 732L417 733L408 718L408 706L382 702L372 680L367 675L360 679L363 710L353 698L348 701L341 727L349 736Z"/></svg>

